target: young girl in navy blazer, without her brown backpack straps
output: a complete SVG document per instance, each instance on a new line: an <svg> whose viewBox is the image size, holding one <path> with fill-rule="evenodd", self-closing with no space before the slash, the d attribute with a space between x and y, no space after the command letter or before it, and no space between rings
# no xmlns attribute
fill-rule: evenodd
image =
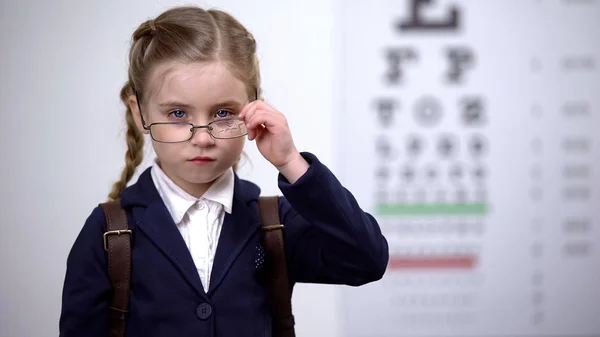
<svg viewBox="0 0 600 337"><path fill-rule="evenodd" d="M230 15L170 9L134 33L126 166L109 198L133 231L128 337L270 336L259 275L259 188L235 167L247 135L279 171L288 277L363 285L380 279L388 246L375 219L260 97L256 42ZM144 135L157 159L142 161ZM60 335L106 337L112 294L105 215L93 210L67 261ZM202 310L200 310L202 309Z"/></svg>

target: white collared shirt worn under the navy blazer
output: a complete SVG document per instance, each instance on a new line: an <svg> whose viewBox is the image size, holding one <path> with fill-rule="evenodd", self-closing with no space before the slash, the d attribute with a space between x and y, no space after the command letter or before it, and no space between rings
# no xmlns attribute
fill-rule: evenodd
<svg viewBox="0 0 600 337"><path fill-rule="evenodd" d="M190 250L204 291L208 292L225 212L231 214L233 169L230 168L217 178L199 199L177 186L160 168L158 160L154 160L150 174L158 194Z"/></svg>

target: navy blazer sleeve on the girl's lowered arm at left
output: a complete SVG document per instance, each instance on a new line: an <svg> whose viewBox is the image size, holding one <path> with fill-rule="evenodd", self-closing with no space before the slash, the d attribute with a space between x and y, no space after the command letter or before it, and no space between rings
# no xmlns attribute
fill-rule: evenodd
<svg viewBox="0 0 600 337"><path fill-rule="evenodd" d="M96 207L67 258L60 337L108 336L112 286L107 273L104 230L104 213L100 207Z"/></svg>

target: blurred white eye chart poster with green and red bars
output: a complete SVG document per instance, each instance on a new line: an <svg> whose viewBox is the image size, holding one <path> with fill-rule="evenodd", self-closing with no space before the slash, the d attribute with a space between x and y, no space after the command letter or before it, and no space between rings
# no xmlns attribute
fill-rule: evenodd
<svg viewBox="0 0 600 337"><path fill-rule="evenodd" d="M341 180L390 244L344 336L600 336L600 1L344 1Z"/></svg>

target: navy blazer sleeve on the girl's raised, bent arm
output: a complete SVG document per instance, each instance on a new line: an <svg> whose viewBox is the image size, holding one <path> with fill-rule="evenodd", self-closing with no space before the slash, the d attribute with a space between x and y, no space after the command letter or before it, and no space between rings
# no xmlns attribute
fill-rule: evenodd
<svg viewBox="0 0 600 337"><path fill-rule="evenodd" d="M359 286L381 279L389 250L379 224L314 155L302 156L310 168L298 181L279 175L290 281Z"/></svg>

